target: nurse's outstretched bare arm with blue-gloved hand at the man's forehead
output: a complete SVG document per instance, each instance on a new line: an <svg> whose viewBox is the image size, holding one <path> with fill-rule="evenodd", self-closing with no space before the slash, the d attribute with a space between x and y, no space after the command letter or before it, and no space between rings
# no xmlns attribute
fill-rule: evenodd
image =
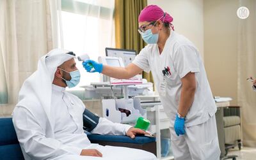
<svg viewBox="0 0 256 160"><path fill-rule="evenodd" d="M88 60L83 62L83 66L88 72L91 72L91 69L92 69L92 66L90 64L92 64L96 72L102 73L107 76L111 76L113 78L118 78L118 79L129 79L129 78L132 78L132 76L138 75L143 71L143 69L139 68L133 63L129 64L125 68L122 68L122 67L112 67L108 65L103 65L98 62Z"/></svg>

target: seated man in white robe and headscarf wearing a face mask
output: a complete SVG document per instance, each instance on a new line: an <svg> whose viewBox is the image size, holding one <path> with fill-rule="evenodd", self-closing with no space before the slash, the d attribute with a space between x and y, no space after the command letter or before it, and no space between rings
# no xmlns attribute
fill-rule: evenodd
<svg viewBox="0 0 256 160"><path fill-rule="evenodd" d="M156 159L144 150L90 143L83 131L85 106L65 91L80 80L74 57L67 50L52 50L38 61L38 69L20 89L13 124L25 159ZM99 119L92 133L131 138L147 134L104 118Z"/></svg>

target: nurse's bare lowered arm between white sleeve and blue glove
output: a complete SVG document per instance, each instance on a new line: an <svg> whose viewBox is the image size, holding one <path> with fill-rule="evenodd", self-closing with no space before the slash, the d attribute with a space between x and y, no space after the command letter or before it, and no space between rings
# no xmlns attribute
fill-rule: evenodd
<svg viewBox="0 0 256 160"><path fill-rule="evenodd" d="M185 117L194 101L194 96L196 91L195 73L189 72L186 76L181 78L181 82L182 82L182 88L180 92L178 113L182 117Z"/></svg>

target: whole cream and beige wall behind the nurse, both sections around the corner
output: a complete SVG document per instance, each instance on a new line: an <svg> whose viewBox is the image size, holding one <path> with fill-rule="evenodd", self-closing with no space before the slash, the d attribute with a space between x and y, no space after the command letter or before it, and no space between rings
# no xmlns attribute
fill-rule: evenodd
<svg viewBox="0 0 256 160"><path fill-rule="evenodd" d="M214 96L237 105L237 15L239 0L148 0L173 16L175 31L191 40L204 59Z"/></svg>

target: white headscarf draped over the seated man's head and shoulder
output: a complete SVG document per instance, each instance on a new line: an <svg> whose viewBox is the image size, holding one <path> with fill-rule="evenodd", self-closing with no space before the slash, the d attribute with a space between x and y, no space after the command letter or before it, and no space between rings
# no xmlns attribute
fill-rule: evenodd
<svg viewBox="0 0 256 160"><path fill-rule="evenodd" d="M58 66L75 57L67 53L68 50L54 49L40 58L37 70L25 80L20 89L16 107L22 106L31 113L42 107L50 124L53 122L51 120L52 81ZM51 124L51 127L53 125Z"/></svg>

